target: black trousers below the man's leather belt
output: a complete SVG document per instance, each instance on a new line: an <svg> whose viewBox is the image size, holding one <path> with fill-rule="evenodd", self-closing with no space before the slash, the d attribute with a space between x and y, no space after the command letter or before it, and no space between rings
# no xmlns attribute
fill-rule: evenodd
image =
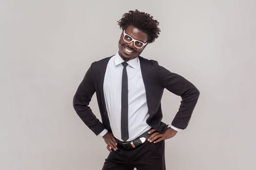
<svg viewBox="0 0 256 170"><path fill-rule="evenodd" d="M118 147L109 153L102 170L165 170L164 140L158 143L145 141L135 149Z"/></svg>

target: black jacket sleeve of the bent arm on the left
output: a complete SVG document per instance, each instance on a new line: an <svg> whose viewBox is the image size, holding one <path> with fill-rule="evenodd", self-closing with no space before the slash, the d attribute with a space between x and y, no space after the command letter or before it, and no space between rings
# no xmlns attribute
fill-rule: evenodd
<svg viewBox="0 0 256 170"><path fill-rule="evenodd" d="M94 64L94 63L93 63ZM78 116L82 121L96 134L102 132L105 127L93 114L91 108L88 106L93 94L95 93L95 85L93 78L95 73L93 71L93 64L86 72L82 82L80 83L77 92L73 99L73 106Z"/></svg>

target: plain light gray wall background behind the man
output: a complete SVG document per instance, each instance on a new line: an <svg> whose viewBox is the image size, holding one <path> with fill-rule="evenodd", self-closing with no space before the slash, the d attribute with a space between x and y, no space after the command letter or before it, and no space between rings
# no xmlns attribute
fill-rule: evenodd
<svg viewBox="0 0 256 170"><path fill-rule="evenodd" d="M255 0L0 0L0 169L99 170L108 151L72 107L93 61L115 54L128 10L161 34L142 52L200 90L167 170L255 170ZM164 121L180 97L165 91ZM98 116L96 98L91 107Z"/></svg>

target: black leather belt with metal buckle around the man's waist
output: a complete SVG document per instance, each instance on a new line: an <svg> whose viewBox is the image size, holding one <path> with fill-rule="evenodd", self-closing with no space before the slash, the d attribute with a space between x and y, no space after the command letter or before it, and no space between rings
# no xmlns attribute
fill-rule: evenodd
<svg viewBox="0 0 256 170"><path fill-rule="evenodd" d="M149 136L151 136L151 135L148 134L149 131L150 130L148 130L144 134L138 136L136 139L134 139L132 141L129 141L129 142L122 142L122 141L117 139L118 146L123 148L123 149L134 149L134 148L142 145L149 138Z"/></svg>

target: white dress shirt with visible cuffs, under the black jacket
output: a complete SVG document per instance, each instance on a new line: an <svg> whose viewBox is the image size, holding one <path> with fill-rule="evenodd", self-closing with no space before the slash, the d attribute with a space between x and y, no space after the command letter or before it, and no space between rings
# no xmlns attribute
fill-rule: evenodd
<svg viewBox="0 0 256 170"><path fill-rule="evenodd" d="M110 58L104 77L104 98L110 127L113 135L120 141L121 139L121 85L122 85L122 62L124 60L116 55ZM128 131L127 141L134 140L149 129L146 122L149 117L146 100L146 90L143 83L140 63L138 57L127 61L128 66ZM171 126L174 130L180 129ZM99 135L104 136L108 131L104 129Z"/></svg>

